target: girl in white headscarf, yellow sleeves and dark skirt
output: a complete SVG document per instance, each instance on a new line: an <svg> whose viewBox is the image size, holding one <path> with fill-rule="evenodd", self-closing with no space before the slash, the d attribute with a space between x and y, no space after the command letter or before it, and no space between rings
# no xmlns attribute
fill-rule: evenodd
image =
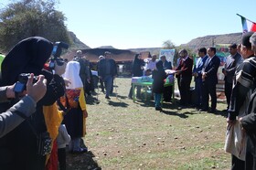
<svg viewBox="0 0 256 170"><path fill-rule="evenodd" d="M64 123L71 137L69 151L72 153L87 152L87 148L80 147L80 138L86 133L86 102L84 97L83 84L80 80L80 63L78 61L69 61L63 74L63 78L71 83L66 86L66 96L64 104L69 108L68 114L64 117Z"/></svg>

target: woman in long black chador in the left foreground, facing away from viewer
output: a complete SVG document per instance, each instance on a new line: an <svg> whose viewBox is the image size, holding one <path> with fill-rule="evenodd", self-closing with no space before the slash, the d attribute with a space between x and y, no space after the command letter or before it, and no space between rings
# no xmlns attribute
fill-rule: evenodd
<svg viewBox="0 0 256 170"><path fill-rule="evenodd" d="M59 48L61 46L57 47L57 51ZM27 120L12 132L0 138L1 169L44 170L46 167L47 155L51 152L51 136L45 115L55 115L55 112L48 112L46 108L54 107L56 101L65 92L65 82L61 74L66 65L57 59L59 56L54 59L55 73L43 69L52 51L53 43L48 39L28 37L17 43L2 62L0 86L16 83L21 73L33 72L36 76L41 74L45 76L47 91L43 98L37 101L36 112L28 116ZM15 100L1 103L0 112L6 111L19 102L20 94L23 94L23 91L16 92ZM54 120L51 121L54 122Z"/></svg>

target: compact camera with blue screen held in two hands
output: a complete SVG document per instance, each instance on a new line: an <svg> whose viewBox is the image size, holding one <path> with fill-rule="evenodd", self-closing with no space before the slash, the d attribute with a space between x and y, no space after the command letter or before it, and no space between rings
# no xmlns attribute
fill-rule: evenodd
<svg viewBox="0 0 256 170"><path fill-rule="evenodd" d="M14 88L15 92L19 93L19 92L22 92L27 89L27 80L28 80L29 76L30 76L29 73L21 73L18 76L18 81L16 81L16 85ZM38 80L38 76L34 76L33 84L36 83L37 80Z"/></svg>

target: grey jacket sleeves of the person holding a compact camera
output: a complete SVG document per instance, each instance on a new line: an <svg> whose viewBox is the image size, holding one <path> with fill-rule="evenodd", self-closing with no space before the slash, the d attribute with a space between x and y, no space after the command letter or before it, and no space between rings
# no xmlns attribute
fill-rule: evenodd
<svg viewBox="0 0 256 170"><path fill-rule="evenodd" d="M0 87L0 102L7 101L5 90L6 87ZM31 97L25 96L6 112L0 113L0 138L24 122L24 118L36 112L36 106L37 103ZM24 118L18 114L23 114Z"/></svg>

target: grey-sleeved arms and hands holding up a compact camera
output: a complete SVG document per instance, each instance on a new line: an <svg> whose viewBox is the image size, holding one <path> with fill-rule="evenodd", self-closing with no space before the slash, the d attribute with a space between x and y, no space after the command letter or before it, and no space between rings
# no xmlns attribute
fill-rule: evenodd
<svg viewBox="0 0 256 170"><path fill-rule="evenodd" d="M40 75L35 84L33 84L34 74L28 78L27 91L25 96L13 105L6 112L0 113L0 138L6 133L11 132L27 117L36 112L37 101L42 99L47 91L46 80ZM15 98L14 85L0 87L0 101L8 101Z"/></svg>

